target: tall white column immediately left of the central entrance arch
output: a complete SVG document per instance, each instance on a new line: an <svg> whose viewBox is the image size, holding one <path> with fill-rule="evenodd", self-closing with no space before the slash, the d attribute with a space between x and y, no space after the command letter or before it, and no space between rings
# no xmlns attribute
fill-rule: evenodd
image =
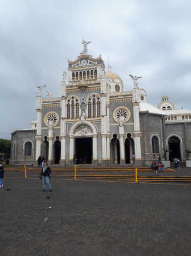
<svg viewBox="0 0 191 256"><path fill-rule="evenodd" d="M60 165L65 166L65 140L66 140L66 84L61 84L61 119L60 119L60 139L61 154Z"/></svg>

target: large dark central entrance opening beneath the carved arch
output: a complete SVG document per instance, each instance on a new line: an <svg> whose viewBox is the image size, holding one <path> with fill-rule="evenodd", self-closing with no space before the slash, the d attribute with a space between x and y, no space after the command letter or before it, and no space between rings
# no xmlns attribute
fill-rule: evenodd
<svg viewBox="0 0 191 256"><path fill-rule="evenodd" d="M92 137L75 138L75 156L77 163L92 162L93 155L93 140Z"/></svg>

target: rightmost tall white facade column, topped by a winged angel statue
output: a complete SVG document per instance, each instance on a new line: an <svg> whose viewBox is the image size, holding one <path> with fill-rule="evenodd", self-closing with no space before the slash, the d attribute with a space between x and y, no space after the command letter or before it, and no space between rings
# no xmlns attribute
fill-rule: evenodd
<svg viewBox="0 0 191 256"><path fill-rule="evenodd" d="M133 88L133 118L134 118L134 153L136 165L142 165L140 143L140 120L139 120L139 88Z"/></svg>

